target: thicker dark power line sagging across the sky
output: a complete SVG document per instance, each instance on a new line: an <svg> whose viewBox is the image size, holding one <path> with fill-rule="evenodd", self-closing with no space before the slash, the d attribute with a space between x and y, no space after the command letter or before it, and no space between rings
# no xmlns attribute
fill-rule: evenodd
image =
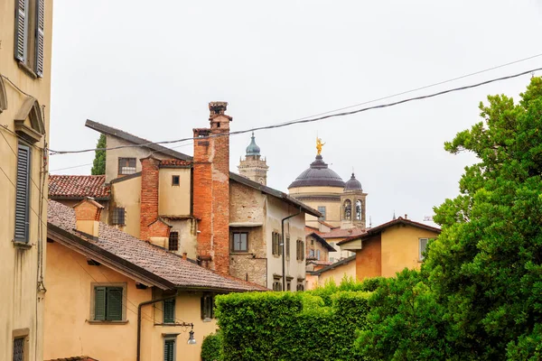
<svg viewBox="0 0 542 361"><path fill-rule="evenodd" d="M530 74L530 73L532 73L534 71L537 71L537 70L542 70L542 68L529 69L529 70L522 71L520 73L509 75L509 76L506 76L506 77L500 77L500 78L485 80L485 81L482 81L480 83L475 83L475 84L472 84L472 85L467 85L467 86L458 87L458 88L450 88L450 89L442 90L442 91L439 91L439 92L436 92L436 93L431 93L431 94L428 94L428 95L425 95L425 96L409 97L409 98L406 98L406 99L398 100L396 102L381 104L381 105L378 105L378 106L367 106L367 107L363 107L363 108L360 108L360 109L351 110L349 112L335 113L335 114L331 114L331 115L328 115L328 116L318 116L318 117L313 117L313 118L297 119L297 120L292 120L292 121L289 121L289 122L280 123L280 124L276 124L276 125L257 126L257 127L253 127L253 128L250 128L250 129L238 130L238 131L235 131L235 132L229 132L228 134L210 134L208 136L201 136L201 137L198 137L198 138L191 137L191 138L176 139L176 140L173 140L173 141L149 142L149 143L131 144L131 145L119 145L119 146L111 147L111 148L91 148L91 149L83 149L83 150L79 150L79 151L54 151L54 150L50 149L49 151L51 153L54 153L54 154L72 154L72 153L95 152L95 151L99 151L99 150L115 150L115 149L121 149L121 148L145 147L145 146L149 146L149 145L181 143L181 142L194 141L196 139L199 139L199 140L201 140L201 139L209 139L209 138L214 138L214 137L219 137L219 136L245 134L245 133L255 132L255 131L258 131L258 130L268 130L268 129L282 128L282 127L290 126L290 125L313 123L313 122L317 122L319 120L329 119L329 118L332 118L332 117L351 116L351 115L358 114L358 113L361 113L361 112L366 112L368 110L379 109L379 108L384 108L384 107L389 107L389 106L398 106L400 104L404 104L404 103L408 103L408 102L412 102L412 101L416 101L416 100L422 100L422 99L427 99L427 98L431 98L431 97L439 97L439 96L442 96L444 94L457 92L457 91L463 91L463 90L470 89L470 88L478 88L478 87L481 87L483 85L487 85L487 84L494 83L494 82L497 82L497 81L518 78L518 77L520 77L522 75Z"/></svg>

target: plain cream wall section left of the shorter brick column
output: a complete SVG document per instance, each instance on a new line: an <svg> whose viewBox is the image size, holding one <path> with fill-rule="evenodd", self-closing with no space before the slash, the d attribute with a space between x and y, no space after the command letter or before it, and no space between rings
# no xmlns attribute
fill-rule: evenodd
<svg viewBox="0 0 542 361"><path fill-rule="evenodd" d="M124 207L125 227L120 227L124 232L139 237L139 215L141 213L141 177L117 181L111 184L111 209Z"/></svg>

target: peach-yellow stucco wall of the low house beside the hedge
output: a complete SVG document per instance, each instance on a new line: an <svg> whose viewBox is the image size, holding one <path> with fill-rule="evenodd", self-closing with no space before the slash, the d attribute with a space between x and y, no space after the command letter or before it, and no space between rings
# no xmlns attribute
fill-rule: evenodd
<svg viewBox="0 0 542 361"><path fill-rule="evenodd" d="M88 355L98 360L133 361L136 355L137 306L150 301L151 288L138 290L135 281L105 265L90 266L87 258L58 243L48 243L49 287L45 301L44 358ZM126 323L91 324L91 292L95 282L126 283ZM195 346L187 345L188 329L159 326L162 303L144 306L142 310L141 360L164 357L166 333L177 336L177 360L200 361L203 337L217 329L215 320L201 320L201 292L181 292L175 302L177 322L193 322Z"/></svg>

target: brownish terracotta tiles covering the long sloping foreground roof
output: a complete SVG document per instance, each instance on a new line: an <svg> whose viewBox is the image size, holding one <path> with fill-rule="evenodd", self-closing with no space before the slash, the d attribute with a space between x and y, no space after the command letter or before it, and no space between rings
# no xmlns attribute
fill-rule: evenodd
<svg viewBox="0 0 542 361"><path fill-rule="evenodd" d="M84 239L90 244L126 260L131 264L154 273L177 287L209 288L229 291L266 291L265 287L245 282L234 277L212 272L181 256L167 252L164 248L151 245L105 223L99 223L99 237L93 239L81 236L75 228L75 211L51 200L48 207L48 223Z"/></svg>

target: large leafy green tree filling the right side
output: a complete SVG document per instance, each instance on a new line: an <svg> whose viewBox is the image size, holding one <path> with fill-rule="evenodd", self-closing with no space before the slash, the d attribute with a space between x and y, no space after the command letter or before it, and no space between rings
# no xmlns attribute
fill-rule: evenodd
<svg viewBox="0 0 542 361"><path fill-rule="evenodd" d="M401 273L371 298L369 320L383 326L370 323L361 334L368 355L540 359L542 79L531 79L519 103L490 96L480 110L483 121L444 144L480 162L465 168L459 196L435 208L443 231L428 245L421 273ZM394 300L414 300L421 310L409 313ZM406 345L419 356L396 353Z"/></svg>

